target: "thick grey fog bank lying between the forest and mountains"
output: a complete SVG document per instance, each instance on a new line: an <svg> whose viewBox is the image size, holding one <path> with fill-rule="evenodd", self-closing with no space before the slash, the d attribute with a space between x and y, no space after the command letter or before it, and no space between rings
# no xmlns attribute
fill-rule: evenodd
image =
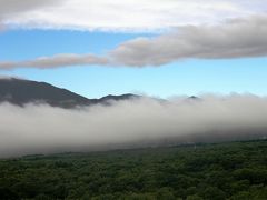
<svg viewBox="0 0 267 200"><path fill-rule="evenodd" d="M150 98L72 110L0 104L0 157L267 136L267 99L205 96Z"/></svg>

